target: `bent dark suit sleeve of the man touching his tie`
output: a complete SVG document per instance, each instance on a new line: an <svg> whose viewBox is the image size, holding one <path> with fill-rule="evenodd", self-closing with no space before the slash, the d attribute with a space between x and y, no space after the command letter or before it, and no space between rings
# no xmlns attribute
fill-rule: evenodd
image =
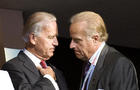
<svg viewBox="0 0 140 90"><path fill-rule="evenodd" d="M35 84L31 84L24 72L13 64L6 63L2 69L9 72L15 90L55 90L53 84L47 78L38 78Z"/></svg>

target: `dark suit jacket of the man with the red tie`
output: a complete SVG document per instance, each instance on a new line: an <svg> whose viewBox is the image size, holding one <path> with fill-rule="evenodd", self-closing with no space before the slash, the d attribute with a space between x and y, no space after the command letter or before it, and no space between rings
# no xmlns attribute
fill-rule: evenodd
<svg viewBox="0 0 140 90"><path fill-rule="evenodd" d="M56 74L60 90L67 90L62 73L51 65ZM15 90L55 90L51 81L43 78L33 62L21 51L19 55L5 63L2 69L7 70Z"/></svg>

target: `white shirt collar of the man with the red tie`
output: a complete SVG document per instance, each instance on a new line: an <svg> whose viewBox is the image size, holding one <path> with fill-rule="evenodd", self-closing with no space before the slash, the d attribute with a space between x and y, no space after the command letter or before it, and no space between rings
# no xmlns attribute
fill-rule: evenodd
<svg viewBox="0 0 140 90"><path fill-rule="evenodd" d="M39 58L37 58L35 55L33 55L31 52L29 52L25 48L23 49L23 52L32 60L35 66L41 66L40 65L41 60Z"/></svg>

